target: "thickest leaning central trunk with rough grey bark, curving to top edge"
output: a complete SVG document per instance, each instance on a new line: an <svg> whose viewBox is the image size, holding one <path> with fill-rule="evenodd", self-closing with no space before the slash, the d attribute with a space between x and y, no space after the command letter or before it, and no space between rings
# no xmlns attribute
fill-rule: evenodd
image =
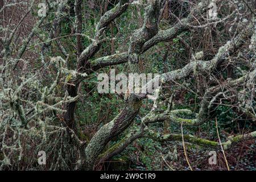
<svg viewBox="0 0 256 182"><path fill-rule="evenodd" d="M130 71L137 70L138 44L143 44L146 40L152 38L158 31L158 16L159 16L159 1L152 1L147 6L144 15L144 24L131 38L129 47ZM134 57L135 55L135 57ZM137 57L138 58L138 57ZM134 118L141 108L142 100L139 100L134 94L130 94L126 102L125 108L113 119L113 121L102 126L100 130L90 140L88 146L85 148L86 160L85 166L87 169L93 169L96 164L98 155L101 154L106 144L115 136L119 135L133 122Z"/></svg>

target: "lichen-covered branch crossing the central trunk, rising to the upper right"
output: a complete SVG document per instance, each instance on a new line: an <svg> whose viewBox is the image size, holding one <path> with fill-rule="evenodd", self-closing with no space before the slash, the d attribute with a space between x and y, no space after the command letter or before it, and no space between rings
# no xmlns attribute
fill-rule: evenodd
<svg viewBox="0 0 256 182"><path fill-rule="evenodd" d="M199 4L199 7L195 8L192 10L191 14L188 15L187 18L184 18L181 20L181 22L191 22L194 19L195 15L200 15L201 13L203 13L205 11L206 7L204 4ZM150 18L150 17L149 17ZM157 19L157 18L155 18ZM154 28L155 30L157 29L157 27ZM151 36L148 36L149 34L147 33L144 36L143 32L147 31L146 25L143 26L141 28L140 31L135 32L134 36L139 37L139 40L134 40L132 39L131 42L132 45L142 45L142 46L131 46L130 47L130 55L131 52L146 52L149 48L155 46L157 43L160 42L169 42L172 39L174 39L177 35L181 34L182 32L188 30L188 28L186 26L184 26L181 23L176 24L175 26L168 28L167 30L160 30L157 32L157 34L152 34ZM138 35L137 35L138 34ZM151 37L151 38L147 38ZM141 43L138 43L138 41L141 41ZM94 43L95 45L97 45L97 42ZM96 46L97 47L97 46ZM137 47L137 51L135 51L135 48ZM88 48L88 51L86 51L86 54L88 57L92 57L92 53L89 52L89 50L92 48ZM94 51L92 51L94 52ZM84 70L84 72L86 73L92 73L93 71L96 71L97 69L100 68L104 68L104 67L108 67L110 65L116 65L116 64L122 64L122 63L127 63L128 59L129 59L129 52L123 52L123 53L117 53L114 55L110 55L110 56L104 56L104 57L100 57L96 60L91 60L90 62L90 66L88 67L88 70ZM137 55L138 56L138 55ZM136 57L135 57L136 58ZM88 60L88 58L87 58Z"/></svg>

